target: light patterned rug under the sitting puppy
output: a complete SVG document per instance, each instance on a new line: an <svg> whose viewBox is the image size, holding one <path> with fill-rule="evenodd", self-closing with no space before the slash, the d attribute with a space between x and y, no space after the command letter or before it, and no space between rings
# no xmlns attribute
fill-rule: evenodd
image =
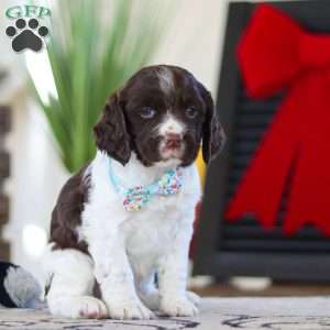
<svg viewBox="0 0 330 330"><path fill-rule="evenodd" d="M147 321L69 320L53 318L46 309L0 309L0 330L330 330L330 297L205 298L196 318Z"/></svg>

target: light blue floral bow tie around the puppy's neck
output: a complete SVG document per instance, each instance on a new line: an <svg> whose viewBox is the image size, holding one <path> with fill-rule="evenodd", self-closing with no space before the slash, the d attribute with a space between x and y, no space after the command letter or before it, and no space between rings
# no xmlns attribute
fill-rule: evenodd
<svg viewBox="0 0 330 330"><path fill-rule="evenodd" d="M151 199L158 196L169 196L178 194L183 183L183 168L166 170L163 176L147 186L136 186L133 188L125 188L119 178L114 175L111 167L111 161L107 158L108 174L111 185L114 189L123 196L123 207L127 211L139 211L142 207L151 201Z"/></svg>

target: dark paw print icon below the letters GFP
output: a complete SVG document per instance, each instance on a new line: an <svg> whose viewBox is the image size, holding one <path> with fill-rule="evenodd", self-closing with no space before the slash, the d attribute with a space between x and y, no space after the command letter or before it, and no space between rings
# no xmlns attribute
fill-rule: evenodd
<svg viewBox="0 0 330 330"><path fill-rule="evenodd" d="M29 20L28 24L24 19L18 19L15 26L8 26L6 34L12 37L12 48L16 53L23 50L38 52L43 47L43 38L50 33L46 26L40 26L36 19Z"/></svg>

